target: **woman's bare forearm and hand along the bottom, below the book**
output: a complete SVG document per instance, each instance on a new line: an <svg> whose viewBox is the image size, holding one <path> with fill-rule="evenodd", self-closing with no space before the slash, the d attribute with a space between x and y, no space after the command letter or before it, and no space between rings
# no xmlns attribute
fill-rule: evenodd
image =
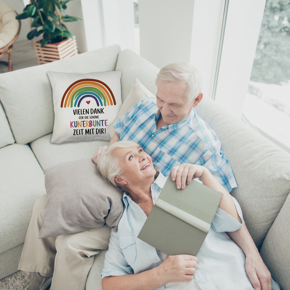
<svg viewBox="0 0 290 290"><path fill-rule="evenodd" d="M138 274L108 276L102 279L103 290L151 290L168 282L191 281L198 259L191 255L168 256L162 264Z"/></svg>

